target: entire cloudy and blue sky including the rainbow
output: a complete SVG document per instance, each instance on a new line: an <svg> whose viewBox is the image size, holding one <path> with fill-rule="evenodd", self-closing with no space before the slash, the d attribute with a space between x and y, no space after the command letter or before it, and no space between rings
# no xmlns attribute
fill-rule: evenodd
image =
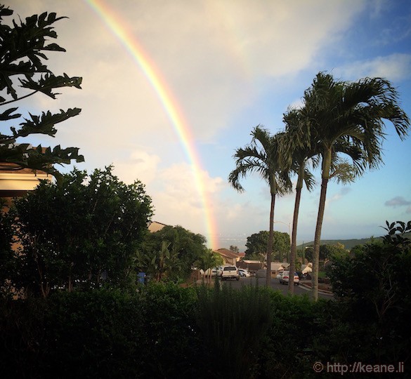
<svg viewBox="0 0 411 379"><path fill-rule="evenodd" d="M15 16L44 11L56 23L55 74L83 77L58 100L30 98L31 112L80 107L43 145L80 147L78 168L113 164L124 182L145 183L153 220L203 234L214 248L244 249L268 230L269 190L258 176L228 184L235 149L262 124L283 128L315 74L384 77L411 116L411 3L365 0L6 0ZM322 239L384 234L411 220L411 139L387 125L385 165L348 186L332 182ZM71 168L70 168L71 169ZM316 173L320 182L319 173ZM320 186L303 192L299 242L312 241ZM275 230L289 232L294 194L278 199Z"/></svg>

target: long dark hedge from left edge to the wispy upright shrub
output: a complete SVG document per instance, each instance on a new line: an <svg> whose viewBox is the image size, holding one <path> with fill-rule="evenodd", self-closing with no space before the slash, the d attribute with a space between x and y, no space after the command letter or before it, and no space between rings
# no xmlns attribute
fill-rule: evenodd
<svg viewBox="0 0 411 379"><path fill-rule="evenodd" d="M1 302L1 378L190 377L193 288L93 290Z"/></svg>

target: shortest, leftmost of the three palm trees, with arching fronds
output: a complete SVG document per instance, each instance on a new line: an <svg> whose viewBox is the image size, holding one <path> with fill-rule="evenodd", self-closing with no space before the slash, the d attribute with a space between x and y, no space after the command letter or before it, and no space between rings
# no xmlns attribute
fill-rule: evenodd
<svg viewBox="0 0 411 379"><path fill-rule="evenodd" d="M266 285L270 286L275 197L276 195L281 196L289 192L292 185L288 173L282 171L279 164L278 140L276 136L270 135L270 133L261 126L256 126L251 135L252 142L246 147L235 151L236 167L228 176L228 181L237 191L242 192L244 188L240 185L240 178L246 177L249 173L256 172L259 173L270 186L270 232L268 234L266 275Z"/></svg>

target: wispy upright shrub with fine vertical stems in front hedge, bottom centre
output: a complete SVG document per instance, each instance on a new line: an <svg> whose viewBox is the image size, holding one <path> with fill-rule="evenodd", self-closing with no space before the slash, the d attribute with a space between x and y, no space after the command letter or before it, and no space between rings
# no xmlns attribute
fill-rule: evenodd
<svg viewBox="0 0 411 379"><path fill-rule="evenodd" d="M270 323L268 291L258 286L202 286L197 323L206 350L206 377L251 378Z"/></svg>

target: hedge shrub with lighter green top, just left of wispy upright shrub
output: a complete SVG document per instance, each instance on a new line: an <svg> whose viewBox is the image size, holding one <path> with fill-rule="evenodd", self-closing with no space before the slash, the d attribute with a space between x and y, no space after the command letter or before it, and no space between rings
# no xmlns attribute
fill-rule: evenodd
<svg viewBox="0 0 411 379"><path fill-rule="evenodd" d="M195 378L202 341L195 322L195 288L151 284L142 288L145 378Z"/></svg>

